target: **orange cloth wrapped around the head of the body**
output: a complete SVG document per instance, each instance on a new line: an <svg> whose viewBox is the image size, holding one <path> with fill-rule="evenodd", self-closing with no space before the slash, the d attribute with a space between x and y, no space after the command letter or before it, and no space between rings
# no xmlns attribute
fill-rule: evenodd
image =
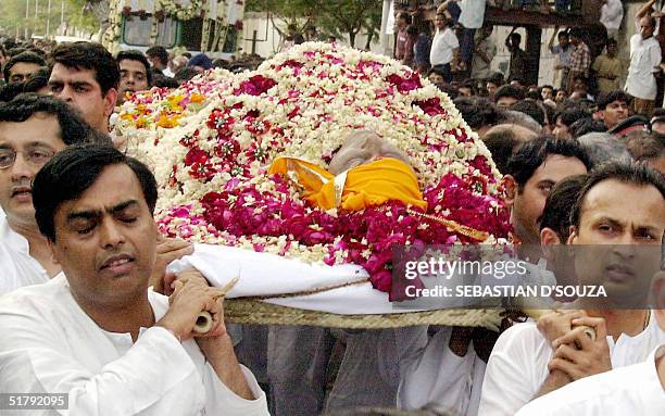
<svg viewBox="0 0 665 416"><path fill-rule="evenodd" d="M402 201L427 210L415 174L402 161L392 157L349 169L334 176L323 167L296 157L278 157L268 171L294 179L304 188L304 198L321 207L360 211L388 201Z"/></svg>

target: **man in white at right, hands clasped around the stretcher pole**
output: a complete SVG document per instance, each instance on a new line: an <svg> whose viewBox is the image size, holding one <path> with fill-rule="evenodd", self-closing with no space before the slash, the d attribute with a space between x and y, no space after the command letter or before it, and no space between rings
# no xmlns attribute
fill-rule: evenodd
<svg viewBox="0 0 665 416"><path fill-rule="evenodd" d="M658 268L665 231L664 196L663 178L643 165L612 162L591 172L573 207L568 237L578 248L580 285L603 285L610 301L624 304L648 292L644 285ZM603 308L589 298L572 306L588 315L572 324L593 327L597 339L577 328L551 344L535 323L513 326L501 335L488 362L480 415L514 415L573 380L644 362L665 342L665 331L650 311L619 311L614 303Z"/></svg>

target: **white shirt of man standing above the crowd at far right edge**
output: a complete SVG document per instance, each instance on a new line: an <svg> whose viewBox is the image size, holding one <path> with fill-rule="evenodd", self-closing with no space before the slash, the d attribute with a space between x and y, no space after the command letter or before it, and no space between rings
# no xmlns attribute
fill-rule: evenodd
<svg viewBox="0 0 665 416"><path fill-rule="evenodd" d="M655 100L654 72L661 64L661 46L652 36L642 39L640 34L630 38L630 67L626 78L626 92L642 100Z"/></svg>

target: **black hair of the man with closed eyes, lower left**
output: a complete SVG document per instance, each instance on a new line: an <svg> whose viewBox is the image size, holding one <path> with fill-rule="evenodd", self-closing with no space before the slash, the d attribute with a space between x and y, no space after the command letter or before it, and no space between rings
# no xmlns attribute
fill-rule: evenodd
<svg viewBox="0 0 665 416"><path fill-rule="evenodd" d="M39 231L54 242L54 217L60 205L79 198L97 181L106 166L120 164L131 168L141 185L150 213L153 214L158 197L156 181L148 166L109 146L72 146L47 162L33 181L33 204Z"/></svg>

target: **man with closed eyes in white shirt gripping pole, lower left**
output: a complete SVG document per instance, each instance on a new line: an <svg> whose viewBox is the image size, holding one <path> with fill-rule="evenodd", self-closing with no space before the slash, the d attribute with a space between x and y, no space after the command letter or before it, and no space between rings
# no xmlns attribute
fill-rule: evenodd
<svg viewBox="0 0 665 416"><path fill-rule="evenodd" d="M223 294L183 277L170 299L148 289L156 197L148 167L108 146L40 169L35 217L64 276L0 299L0 391L67 394L73 415L268 415ZM197 337L203 311L213 327Z"/></svg>

